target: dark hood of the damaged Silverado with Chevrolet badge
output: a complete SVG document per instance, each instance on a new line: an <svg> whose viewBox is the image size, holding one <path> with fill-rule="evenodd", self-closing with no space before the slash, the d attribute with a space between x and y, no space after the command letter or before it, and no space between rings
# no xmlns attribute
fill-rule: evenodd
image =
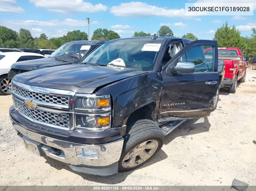
<svg viewBox="0 0 256 191"><path fill-rule="evenodd" d="M15 75L13 80L32 86L91 94L96 88L147 72L132 68L73 64Z"/></svg>

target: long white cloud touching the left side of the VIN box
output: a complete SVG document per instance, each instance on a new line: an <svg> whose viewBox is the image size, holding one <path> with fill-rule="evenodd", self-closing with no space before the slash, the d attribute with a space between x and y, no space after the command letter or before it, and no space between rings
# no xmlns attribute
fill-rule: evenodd
<svg viewBox="0 0 256 191"><path fill-rule="evenodd" d="M185 9L166 9L155 5L148 5L143 2L121 3L112 6L110 12L115 16L143 17L143 16L163 16L163 17L186 17Z"/></svg>

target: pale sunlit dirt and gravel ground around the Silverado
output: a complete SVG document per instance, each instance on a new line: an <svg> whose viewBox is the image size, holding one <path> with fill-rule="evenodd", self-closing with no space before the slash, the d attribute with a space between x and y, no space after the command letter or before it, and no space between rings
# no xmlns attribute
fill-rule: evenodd
<svg viewBox="0 0 256 191"><path fill-rule="evenodd" d="M185 122L141 168L109 177L76 173L26 150L9 120L11 96L0 96L0 185L256 185L256 71L235 94L227 88L210 117Z"/></svg>

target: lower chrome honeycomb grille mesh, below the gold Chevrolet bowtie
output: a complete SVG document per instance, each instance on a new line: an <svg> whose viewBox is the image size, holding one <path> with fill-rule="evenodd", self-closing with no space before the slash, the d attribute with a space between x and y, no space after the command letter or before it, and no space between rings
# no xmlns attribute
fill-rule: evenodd
<svg viewBox="0 0 256 191"><path fill-rule="evenodd" d="M24 103L14 99L15 108L25 117L39 123L49 124L50 126L69 129L69 115L49 112L36 108L28 108Z"/></svg>

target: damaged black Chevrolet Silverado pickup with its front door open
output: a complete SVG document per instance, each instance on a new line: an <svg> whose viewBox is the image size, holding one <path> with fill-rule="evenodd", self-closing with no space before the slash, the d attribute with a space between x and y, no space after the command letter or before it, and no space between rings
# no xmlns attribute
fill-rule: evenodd
<svg viewBox="0 0 256 191"><path fill-rule="evenodd" d="M218 62L216 41L111 40L80 64L16 75L10 118L39 156L95 175L134 170L185 120L216 109Z"/></svg>

